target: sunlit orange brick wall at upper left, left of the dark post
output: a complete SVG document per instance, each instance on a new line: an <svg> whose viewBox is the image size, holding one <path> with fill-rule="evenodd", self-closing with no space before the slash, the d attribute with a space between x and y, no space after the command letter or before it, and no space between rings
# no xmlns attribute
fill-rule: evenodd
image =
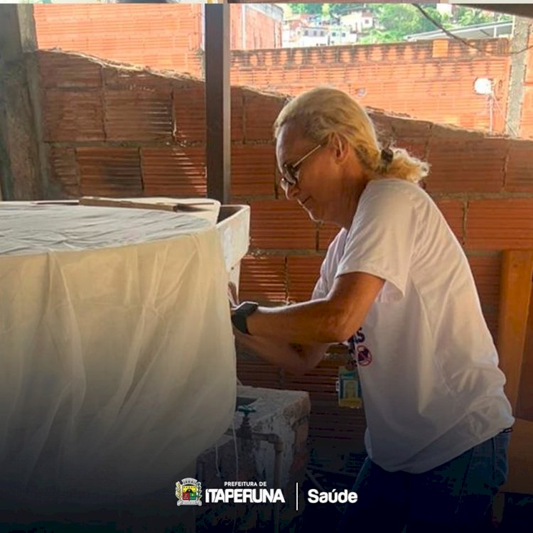
<svg viewBox="0 0 533 533"><path fill-rule="evenodd" d="M39 48L195 76L203 72L200 4L36 4L33 14Z"/></svg>

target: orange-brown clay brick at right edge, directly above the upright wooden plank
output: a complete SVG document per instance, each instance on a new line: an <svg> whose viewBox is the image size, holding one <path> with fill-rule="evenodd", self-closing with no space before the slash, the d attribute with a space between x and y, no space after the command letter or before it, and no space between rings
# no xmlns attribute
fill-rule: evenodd
<svg viewBox="0 0 533 533"><path fill-rule="evenodd" d="M467 249L533 247L533 198L470 200L466 213Z"/></svg>

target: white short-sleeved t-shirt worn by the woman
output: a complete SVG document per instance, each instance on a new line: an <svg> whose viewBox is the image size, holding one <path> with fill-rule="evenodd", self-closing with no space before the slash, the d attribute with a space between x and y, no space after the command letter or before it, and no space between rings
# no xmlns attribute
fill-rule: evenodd
<svg viewBox="0 0 533 533"><path fill-rule="evenodd" d="M328 248L313 298L355 271L385 280L355 335L372 461L421 473L512 426L468 260L418 185L367 184L350 230Z"/></svg>

